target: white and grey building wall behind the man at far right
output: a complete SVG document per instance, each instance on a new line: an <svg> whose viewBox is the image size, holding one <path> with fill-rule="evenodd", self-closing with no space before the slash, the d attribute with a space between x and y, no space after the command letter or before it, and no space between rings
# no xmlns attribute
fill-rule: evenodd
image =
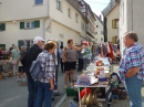
<svg viewBox="0 0 144 107"><path fill-rule="evenodd" d="M134 31L138 35L138 42L144 45L144 0L120 0L119 35L121 51L123 52L123 36L127 31Z"/></svg>

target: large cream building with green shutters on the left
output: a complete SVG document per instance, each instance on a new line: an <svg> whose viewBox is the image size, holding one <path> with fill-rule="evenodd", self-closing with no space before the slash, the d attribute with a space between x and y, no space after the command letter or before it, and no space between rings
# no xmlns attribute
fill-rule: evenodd
<svg viewBox="0 0 144 107"><path fill-rule="evenodd" d="M66 45L68 39L80 44L85 39L83 14L68 0L0 0L0 44L29 47L35 36L55 39Z"/></svg>

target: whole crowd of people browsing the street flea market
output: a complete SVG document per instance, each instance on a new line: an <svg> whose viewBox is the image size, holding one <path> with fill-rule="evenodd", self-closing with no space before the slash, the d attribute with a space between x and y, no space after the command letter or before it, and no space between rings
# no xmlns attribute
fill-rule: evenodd
<svg viewBox="0 0 144 107"><path fill-rule="evenodd" d="M51 107L53 96L59 96L58 90L58 68L61 65L61 72L64 74L64 88L68 87L68 78L70 84L73 83L73 75L79 62L78 72L85 69L95 56L115 58L114 53L121 56L120 45L115 49L110 42L103 44L89 43L83 41L80 45L73 45L73 40L68 40L68 45L59 45L59 41L49 40L47 43L41 36L35 36L33 45L27 52L24 46L19 50L12 44L10 52L12 53L13 75L20 79L24 75L23 82L28 79L28 107ZM144 47L137 43L138 36L134 32L124 34L125 49L121 56L120 76L125 84L127 95L131 100L131 107L142 107L141 89L144 83ZM23 58L23 61L21 61ZM2 52L0 47L0 60ZM33 79L30 74L30 67L33 61L39 60L44 75L41 79ZM22 62L22 64L21 64ZM19 71L18 71L19 69Z"/></svg>

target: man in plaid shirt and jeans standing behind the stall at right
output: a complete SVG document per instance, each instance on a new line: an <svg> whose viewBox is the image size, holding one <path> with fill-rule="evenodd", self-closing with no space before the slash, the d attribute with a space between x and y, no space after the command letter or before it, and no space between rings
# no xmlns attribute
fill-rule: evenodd
<svg viewBox="0 0 144 107"><path fill-rule="evenodd" d="M142 83L144 82L144 47L137 43L138 38L134 32L124 36L126 52L120 64L120 75L125 83L131 107L142 107Z"/></svg>

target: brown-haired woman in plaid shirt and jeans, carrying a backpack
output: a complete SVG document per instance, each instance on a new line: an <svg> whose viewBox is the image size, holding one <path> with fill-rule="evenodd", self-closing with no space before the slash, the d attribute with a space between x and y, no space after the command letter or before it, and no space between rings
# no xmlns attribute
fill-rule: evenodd
<svg viewBox="0 0 144 107"><path fill-rule="evenodd" d="M54 61L52 53L54 52L56 44L52 41L47 42L44 50L39 54L38 60L40 61L40 66L44 72L41 79L37 81L38 95L35 100L35 107L51 107L51 99L54 89Z"/></svg>

